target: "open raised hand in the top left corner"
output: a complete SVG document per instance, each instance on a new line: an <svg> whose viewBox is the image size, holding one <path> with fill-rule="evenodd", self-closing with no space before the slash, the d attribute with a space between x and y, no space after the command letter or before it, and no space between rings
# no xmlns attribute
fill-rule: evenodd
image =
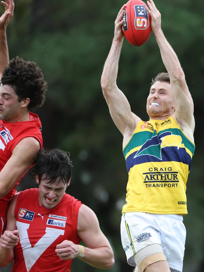
<svg viewBox="0 0 204 272"><path fill-rule="evenodd" d="M13 17L14 3L13 0L1 1L2 5L5 7L5 12L0 17L0 29L6 29L9 21Z"/></svg>

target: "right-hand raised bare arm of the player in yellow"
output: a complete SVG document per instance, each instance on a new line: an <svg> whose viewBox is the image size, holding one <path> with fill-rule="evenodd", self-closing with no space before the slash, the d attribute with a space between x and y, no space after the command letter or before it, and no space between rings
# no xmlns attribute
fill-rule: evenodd
<svg viewBox="0 0 204 272"><path fill-rule="evenodd" d="M170 77L171 95L175 107L174 117L187 136L192 139L195 127L193 100L185 81L185 74L176 53L162 32L161 14L152 0L147 1L147 4L147 11L152 17L152 30L161 52L162 61Z"/></svg>

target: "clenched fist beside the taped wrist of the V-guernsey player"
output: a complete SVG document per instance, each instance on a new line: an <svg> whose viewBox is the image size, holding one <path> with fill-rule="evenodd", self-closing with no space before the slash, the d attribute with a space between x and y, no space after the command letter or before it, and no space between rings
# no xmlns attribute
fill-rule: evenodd
<svg viewBox="0 0 204 272"><path fill-rule="evenodd" d="M55 252L61 260L72 260L78 256L78 246L72 241L64 240L61 244L56 245Z"/></svg>

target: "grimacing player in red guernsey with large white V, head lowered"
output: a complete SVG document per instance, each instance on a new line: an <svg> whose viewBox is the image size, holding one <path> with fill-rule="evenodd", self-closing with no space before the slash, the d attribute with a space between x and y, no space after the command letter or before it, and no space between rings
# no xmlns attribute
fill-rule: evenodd
<svg viewBox="0 0 204 272"><path fill-rule="evenodd" d="M0 239L2 266L14 259L12 271L67 272L75 258L97 268L113 266L113 251L95 213L65 193L71 173L66 152L38 153L32 174L39 188L17 193L9 205Z"/></svg>

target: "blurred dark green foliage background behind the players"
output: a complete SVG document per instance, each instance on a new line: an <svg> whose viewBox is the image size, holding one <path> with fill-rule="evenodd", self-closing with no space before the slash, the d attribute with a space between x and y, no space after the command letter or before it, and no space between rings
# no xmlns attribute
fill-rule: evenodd
<svg viewBox="0 0 204 272"><path fill-rule="evenodd" d="M121 208L127 172L122 135L111 120L100 77L114 35L122 0L16 0L8 26L10 58L35 61L48 82L45 105L36 113L43 125L45 148L71 153L74 165L67 192L92 208L115 254L111 272L130 272L121 246ZM194 0L155 0L162 29L177 53L195 104L196 152L187 183L188 215L184 272L203 272L203 74L204 4ZM3 8L0 10L3 13ZM132 111L148 120L146 99L151 78L165 72L158 45L123 43L117 84ZM18 190L35 187L27 175ZM54 265L54 264L53 264ZM72 271L105 271L75 259ZM10 271L10 268L2 269ZM56 268L57 271L57 268Z"/></svg>

